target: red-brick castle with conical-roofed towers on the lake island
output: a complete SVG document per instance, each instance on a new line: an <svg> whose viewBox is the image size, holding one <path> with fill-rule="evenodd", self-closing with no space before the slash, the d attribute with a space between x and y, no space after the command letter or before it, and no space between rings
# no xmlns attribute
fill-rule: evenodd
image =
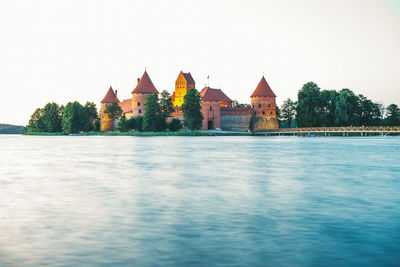
<svg viewBox="0 0 400 267"><path fill-rule="evenodd" d="M175 109L175 112L171 114L173 118L183 121L183 113L180 107L184 103L187 91L191 88L196 88L192 75L190 72L184 73L181 71L175 81L175 90L171 95ZM159 94L159 92L147 71L143 73L141 78L137 79L137 85L132 91L132 98L121 102L117 97L117 90L114 91L110 86L101 101L101 131L111 131L113 128L113 121L104 113L106 105L112 102L118 103L127 119L143 116L146 96L149 94ZM200 96L203 130L222 129L243 132L251 130L259 132L279 128L276 117L276 95L264 76L250 96L250 107L233 107L233 101L221 89L204 87L200 91Z"/></svg>

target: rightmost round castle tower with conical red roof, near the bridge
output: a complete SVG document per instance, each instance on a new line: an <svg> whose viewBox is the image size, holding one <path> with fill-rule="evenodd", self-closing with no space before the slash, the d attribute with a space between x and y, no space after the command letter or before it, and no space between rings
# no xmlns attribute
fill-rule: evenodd
<svg viewBox="0 0 400 267"><path fill-rule="evenodd" d="M276 118L276 95L264 76L250 98L253 114L256 116L254 131L279 128Z"/></svg>

